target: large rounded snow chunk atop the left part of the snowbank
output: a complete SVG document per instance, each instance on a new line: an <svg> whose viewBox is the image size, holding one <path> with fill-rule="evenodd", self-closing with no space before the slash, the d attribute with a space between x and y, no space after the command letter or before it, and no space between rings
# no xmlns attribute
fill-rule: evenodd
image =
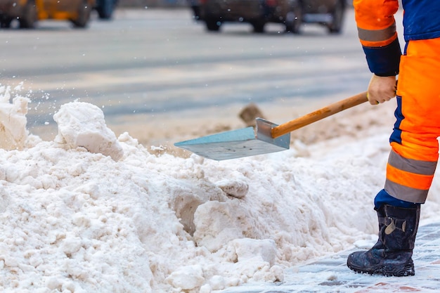
<svg viewBox="0 0 440 293"><path fill-rule="evenodd" d="M89 152L101 153L119 160L124 151L115 134L105 124L100 108L90 103L72 102L64 104L53 115L58 124L56 141L67 148L86 148Z"/></svg>

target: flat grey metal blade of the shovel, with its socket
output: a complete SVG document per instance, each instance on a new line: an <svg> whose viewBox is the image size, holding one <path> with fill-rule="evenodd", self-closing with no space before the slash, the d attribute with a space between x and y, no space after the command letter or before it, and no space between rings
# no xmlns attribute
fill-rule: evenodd
<svg viewBox="0 0 440 293"><path fill-rule="evenodd" d="M273 124L261 118L256 120L257 127L255 130L253 127L247 127L225 131L189 141L181 141L180 143L174 143L174 145L217 161L289 149L290 133L272 138L271 131L278 124Z"/></svg>

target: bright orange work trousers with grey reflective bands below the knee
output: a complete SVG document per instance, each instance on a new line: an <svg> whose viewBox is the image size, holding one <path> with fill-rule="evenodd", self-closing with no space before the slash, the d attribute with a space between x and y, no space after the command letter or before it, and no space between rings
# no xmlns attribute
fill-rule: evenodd
<svg viewBox="0 0 440 293"><path fill-rule="evenodd" d="M440 38L408 41L396 96L384 190L398 200L424 203L439 159Z"/></svg>

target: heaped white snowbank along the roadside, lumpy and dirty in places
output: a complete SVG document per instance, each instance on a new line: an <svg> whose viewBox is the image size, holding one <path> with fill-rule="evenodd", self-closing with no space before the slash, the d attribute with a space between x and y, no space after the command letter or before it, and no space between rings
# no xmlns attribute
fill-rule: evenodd
<svg viewBox="0 0 440 293"><path fill-rule="evenodd" d="M314 143L299 132L290 150L216 162L116 137L89 103L63 105L42 141L28 98L2 86L0 102L1 292L218 292L377 233L392 103L319 124L332 133Z"/></svg>

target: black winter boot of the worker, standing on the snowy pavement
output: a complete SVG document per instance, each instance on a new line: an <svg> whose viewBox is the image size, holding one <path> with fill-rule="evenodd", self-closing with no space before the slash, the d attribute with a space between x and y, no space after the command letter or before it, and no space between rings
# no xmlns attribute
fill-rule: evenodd
<svg viewBox="0 0 440 293"><path fill-rule="evenodd" d="M413 209L382 205L377 210L379 240L366 252L354 252L347 266L358 273L403 277L414 275L415 235L419 226L420 206Z"/></svg>

